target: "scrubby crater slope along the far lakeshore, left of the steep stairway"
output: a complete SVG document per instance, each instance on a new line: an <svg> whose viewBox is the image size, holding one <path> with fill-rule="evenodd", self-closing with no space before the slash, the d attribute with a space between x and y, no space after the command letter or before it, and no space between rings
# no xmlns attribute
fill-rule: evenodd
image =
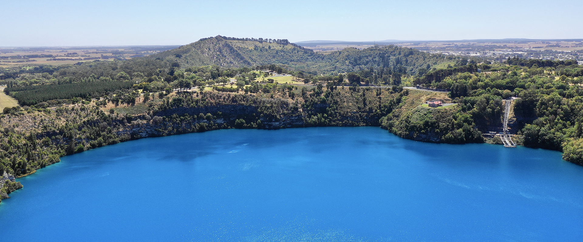
<svg viewBox="0 0 583 242"><path fill-rule="evenodd" d="M428 98L426 92L372 88L331 88L327 93L322 92L318 88L293 87L283 90L282 97L273 93L177 92L115 107L113 104L106 107L72 104L11 110L15 113L3 115L0 121L5 133L20 139L18 142L6 139L6 143L23 143L23 146L13 145L17 149L10 154L11 168L19 177L59 162L59 157L68 154L128 140L216 129L371 126L420 142L491 141L484 140L468 117L453 120L459 105L443 110L419 107L419 102ZM326 95L328 99L324 102ZM440 128L451 123L455 125Z"/></svg>

